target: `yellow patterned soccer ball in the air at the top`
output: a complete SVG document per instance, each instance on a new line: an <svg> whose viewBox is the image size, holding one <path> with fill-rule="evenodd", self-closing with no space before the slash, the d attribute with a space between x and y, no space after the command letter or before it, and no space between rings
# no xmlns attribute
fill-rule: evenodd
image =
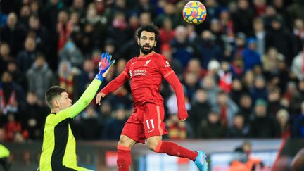
<svg viewBox="0 0 304 171"><path fill-rule="evenodd" d="M183 17L187 23L199 25L203 23L207 11L200 1L189 1L183 8Z"/></svg>

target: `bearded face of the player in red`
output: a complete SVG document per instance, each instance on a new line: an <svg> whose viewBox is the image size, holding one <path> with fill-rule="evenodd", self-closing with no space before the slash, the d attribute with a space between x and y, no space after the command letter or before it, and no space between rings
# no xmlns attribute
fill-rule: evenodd
<svg viewBox="0 0 304 171"><path fill-rule="evenodd" d="M156 38L154 32L141 32L140 39L137 39L137 43L139 44L141 53L147 55L154 50L156 46Z"/></svg>

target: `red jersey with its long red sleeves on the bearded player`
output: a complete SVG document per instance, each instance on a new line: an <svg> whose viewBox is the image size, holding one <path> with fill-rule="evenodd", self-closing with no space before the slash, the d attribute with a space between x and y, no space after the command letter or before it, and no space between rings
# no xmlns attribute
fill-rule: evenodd
<svg viewBox="0 0 304 171"><path fill-rule="evenodd" d="M130 59L125 70L101 89L101 92L107 95L130 80L134 106L141 106L146 102L163 106L163 97L159 91L163 77L175 90L179 119L186 119L188 113L184 104L182 84L170 67L167 58L159 53Z"/></svg>

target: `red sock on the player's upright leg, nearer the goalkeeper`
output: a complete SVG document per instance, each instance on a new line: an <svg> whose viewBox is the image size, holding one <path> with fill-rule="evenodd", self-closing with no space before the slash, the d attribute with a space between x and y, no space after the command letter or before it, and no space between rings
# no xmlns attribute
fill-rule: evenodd
<svg viewBox="0 0 304 171"><path fill-rule="evenodd" d="M118 171L129 171L131 165L131 148L118 146Z"/></svg>

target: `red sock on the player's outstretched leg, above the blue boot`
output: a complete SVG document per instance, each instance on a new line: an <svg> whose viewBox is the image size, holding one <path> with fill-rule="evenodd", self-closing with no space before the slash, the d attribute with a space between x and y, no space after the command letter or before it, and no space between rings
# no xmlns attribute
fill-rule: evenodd
<svg viewBox="0 0 304 171"><path fill-rule="evenodd" d="M191 151L170 141L160 141L155 151L156 153L166 153L170 156L189 158L190 160L194 160L198 156L198 153L195 151Z"/></svg>

